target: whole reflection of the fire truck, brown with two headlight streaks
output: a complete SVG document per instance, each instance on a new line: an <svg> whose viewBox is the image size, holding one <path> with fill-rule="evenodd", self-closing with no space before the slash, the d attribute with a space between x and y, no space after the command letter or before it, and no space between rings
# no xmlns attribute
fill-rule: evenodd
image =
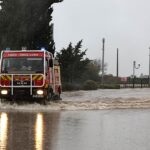
<svg viewBox="0 0 150 150"><path fill-rule="evenodd" d="M0 150L56 150L60 112L0 112Z"/></svg>

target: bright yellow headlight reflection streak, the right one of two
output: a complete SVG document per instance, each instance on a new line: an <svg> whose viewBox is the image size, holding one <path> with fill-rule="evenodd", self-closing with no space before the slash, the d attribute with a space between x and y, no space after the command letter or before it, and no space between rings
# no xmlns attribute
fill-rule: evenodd
<svg viewBox="0 0 150 150"><path fill-rule="evenodd" d="M43 149L43 114L39 113L36 116L35 122L35 149Z"/></svg>

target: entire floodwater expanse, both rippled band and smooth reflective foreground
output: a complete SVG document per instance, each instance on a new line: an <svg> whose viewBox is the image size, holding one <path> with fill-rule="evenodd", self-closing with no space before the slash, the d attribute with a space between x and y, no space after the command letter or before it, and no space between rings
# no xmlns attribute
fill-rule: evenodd
<svg viewBox="0 0 150 150"><path fill-rule="evenodd" d="M0 150L149 150L149 93L78 91L47 106L0 103Z"/></svg>

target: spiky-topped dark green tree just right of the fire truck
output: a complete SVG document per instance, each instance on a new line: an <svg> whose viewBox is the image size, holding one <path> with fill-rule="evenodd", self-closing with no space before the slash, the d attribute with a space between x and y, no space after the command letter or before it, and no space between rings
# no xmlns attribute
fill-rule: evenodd
<svg viewBox="0 0 150 150"><path fill-rule="evenodd" d="M72 43L60 53L57 53L57 58L61 65L61 73L63 82L75 83L79 82L89 63L88 58L84 58L86 50L82 51L82 40L74 47Z"/></svg>

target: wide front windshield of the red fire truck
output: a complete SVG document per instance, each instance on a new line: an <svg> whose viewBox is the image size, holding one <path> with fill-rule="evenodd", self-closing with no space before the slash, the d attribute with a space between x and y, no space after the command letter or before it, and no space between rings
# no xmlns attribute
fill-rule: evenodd
<svg viewBox="0 0 150 150"><path fill-rule="evenodd" d="M2 60L2 73L43 73L42 57L12 57Z"/></svg>

